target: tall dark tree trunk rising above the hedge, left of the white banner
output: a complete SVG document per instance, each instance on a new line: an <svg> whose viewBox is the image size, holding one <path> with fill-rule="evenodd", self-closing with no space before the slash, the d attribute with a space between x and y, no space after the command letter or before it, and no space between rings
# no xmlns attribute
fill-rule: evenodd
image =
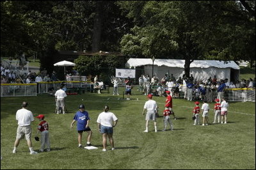
<svg viewBox="0 0 256 170"><path fill-rule="evenodd" d="M93 20L93 40L92 40L92 51L97 52L100 50L100 37L102 31L102 1L97 1L95 17Z"/></svg>

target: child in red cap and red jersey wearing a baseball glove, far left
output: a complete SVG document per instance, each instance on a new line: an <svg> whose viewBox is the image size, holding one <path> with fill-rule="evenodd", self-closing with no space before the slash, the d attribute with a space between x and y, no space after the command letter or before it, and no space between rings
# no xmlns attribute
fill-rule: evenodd
<svg viewBox="0 0 256 170"><path fill-rule="evenodd" d="M44 151L45 144L47 145L47 151L51 151L50 146L50 138L49 138L49 125L47 121L44 120L44 114L39 114L36 116L39 119L40 123L38 125L38 130L36 135L40 132L41 133L41 149L40 151Z"/></svg>

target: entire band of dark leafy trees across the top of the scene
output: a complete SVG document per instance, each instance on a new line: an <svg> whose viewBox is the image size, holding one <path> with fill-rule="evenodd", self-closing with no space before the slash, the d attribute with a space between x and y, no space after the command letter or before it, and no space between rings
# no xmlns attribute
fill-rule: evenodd
<svg viewBox="0 0 256 170"><path fill-rule="evenodd" d="M2 57L56 50L253 63L255 1L1 1Z"/></svg>

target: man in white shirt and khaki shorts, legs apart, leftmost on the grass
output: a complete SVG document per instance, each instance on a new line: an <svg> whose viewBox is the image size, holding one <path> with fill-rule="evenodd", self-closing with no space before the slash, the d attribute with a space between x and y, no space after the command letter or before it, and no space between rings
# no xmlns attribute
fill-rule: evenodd
<svg viewBox="0 0 256 170"><path fill-rule="evenodd" d="M36 154L37 152L33 150L31 141L31 127L30 124L34 121L34 117L31 111L26 109L28 107L28 102L22 102L22 109L16 112L16 120L18 121L17 135L14 143L14 148L12 153L17 152L17 147L19 146L20 139L26 137L30 154Z"/></svg>

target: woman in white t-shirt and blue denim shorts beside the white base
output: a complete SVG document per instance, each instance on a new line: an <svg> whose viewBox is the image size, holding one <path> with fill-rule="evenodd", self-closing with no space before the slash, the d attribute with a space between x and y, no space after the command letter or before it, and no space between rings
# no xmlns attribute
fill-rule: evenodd
<svg viewBox="0 0 256 170"><path fill-rule="evenodd" d="M109 112L108 105L105 105L104 112L101 112L97 118L99 132L100 134L102 134L102 151L106 151L107 137L112 147L111 150L115 150L113 139L113 127L116 126L117 121L118 119L116 118L115 114L113 114L113 112Z"/></svg>

